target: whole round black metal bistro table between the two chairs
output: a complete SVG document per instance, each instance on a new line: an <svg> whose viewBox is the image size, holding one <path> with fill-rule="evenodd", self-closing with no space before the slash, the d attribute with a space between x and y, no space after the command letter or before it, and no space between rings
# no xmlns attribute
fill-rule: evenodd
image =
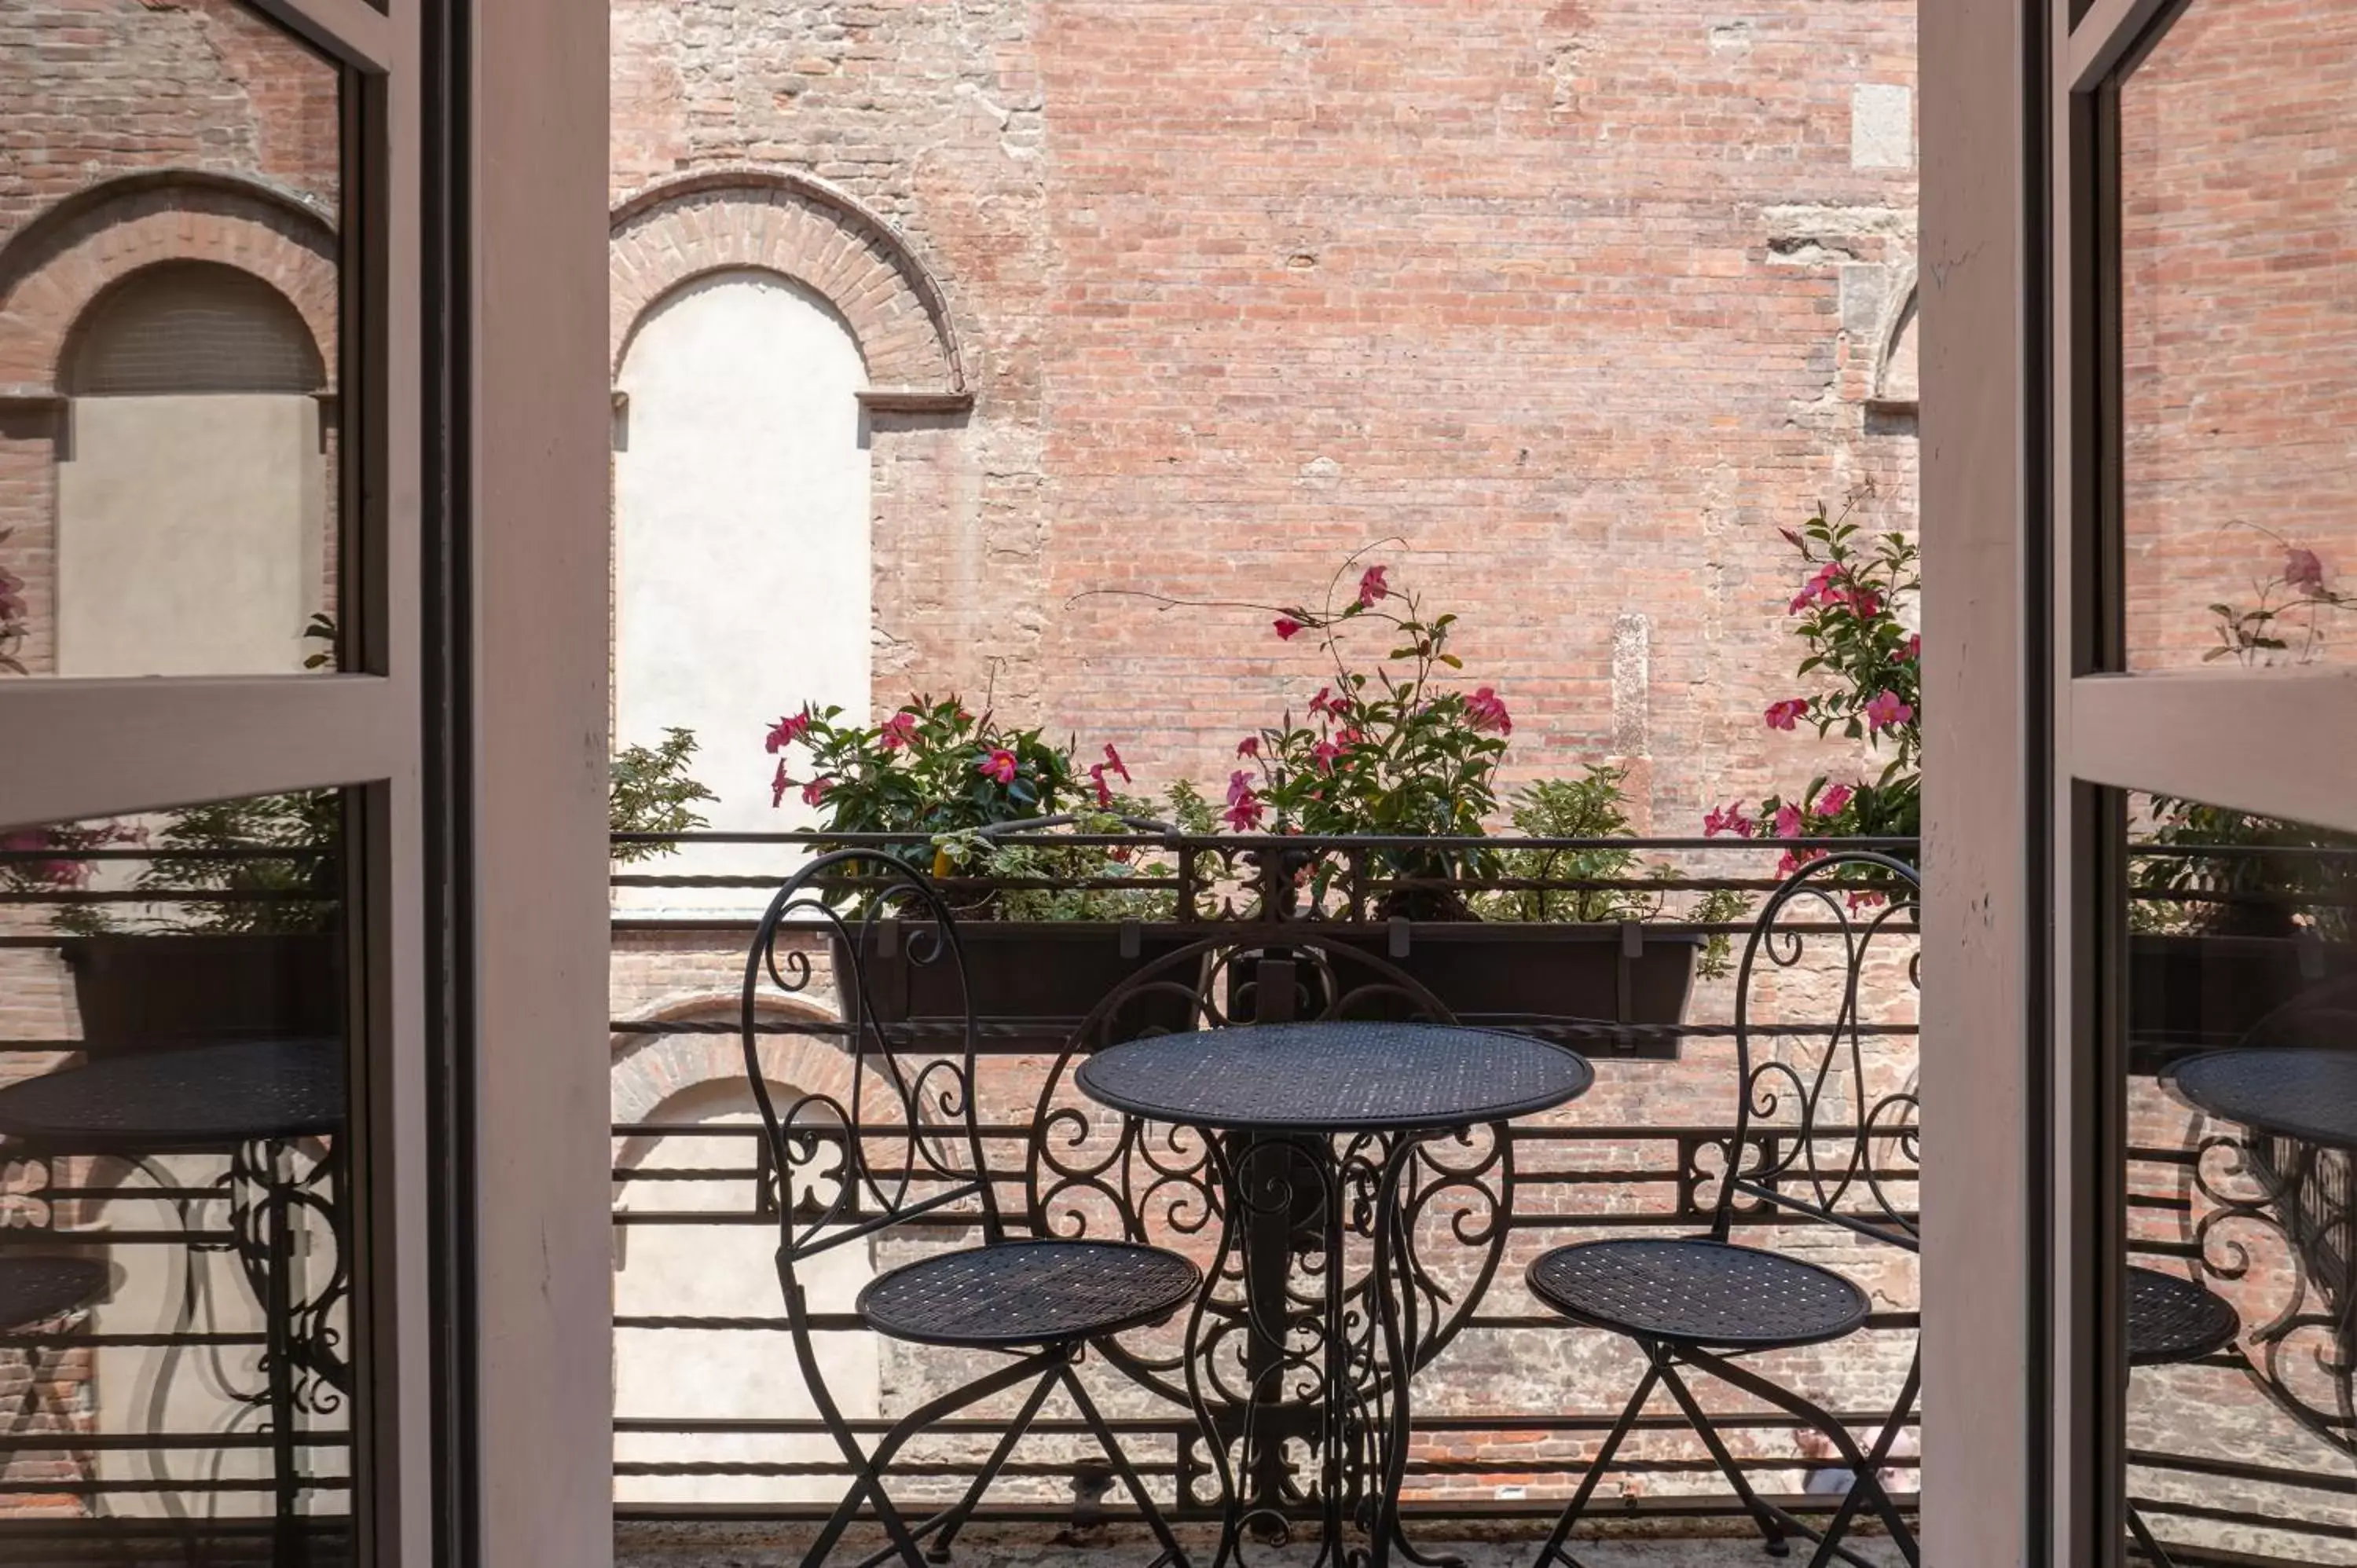
<svg viewBox="0 0 2357 1568"><path fill-rule="evenodd" d="M1204 1386L1202 1323L1211 1292L1244 1278L1247 1316L1259 1356L1256 1394L1310 1389L1318 1405L1318 1566L1365 1561L1381 1568L1391 1551L1428 1563L1400 1535L1400 1483L1407 1474L1409 1382L1417 1370L1419 1287L1412 1278L1414 1221L1407 1188L1417 1151L1473 1127L1549 1111L1586 1094L1596 1073L1558 1045L1483 1028L1435 1023L1263 1023L1134 1040L1089 1056L1077 1082L1124 1115L1211 1134L1221 1188L1219 1254L1204 1269L1188 1320L1188 1394L1204 1427L1221 1481L1223 1528L1214 1568L1242 1551L1247 1526L1285 1530L1266 1495L1247 1497L1242 1476L1270 1460L1285 1431L1256 1431L1247 1415L1230 1462L1230 1434ZM1254 1231L1292 1240L1318 1238L1322 1311L1299 1323L1287 1280L1254 1278ZM1346 1238L1372 1243L1365 1311L1346 1273ZM1266 1250L1263 1250L1266 1254ZM1280 1254L1282 1259L1282 1254ZM1355 1323L1355 1327L1353 1327ZM1261 1410L1254 1398L1247 1412ZM1346 1521L1365 1547L1343 1542Z"/></svg>

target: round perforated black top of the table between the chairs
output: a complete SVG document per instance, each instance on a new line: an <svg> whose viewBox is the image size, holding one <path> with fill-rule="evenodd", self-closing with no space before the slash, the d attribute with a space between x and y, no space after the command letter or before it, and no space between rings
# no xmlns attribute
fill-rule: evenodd
<svg viewBox="0 0 2357 1568"><path fill-rule="evenodd" d="M1228 1132L1409 1132L1579 1099L1596 1070L1530 1035L1438 1023L1261 1023L1155 1035L1080 1063L1115 1111Z"/></svg>

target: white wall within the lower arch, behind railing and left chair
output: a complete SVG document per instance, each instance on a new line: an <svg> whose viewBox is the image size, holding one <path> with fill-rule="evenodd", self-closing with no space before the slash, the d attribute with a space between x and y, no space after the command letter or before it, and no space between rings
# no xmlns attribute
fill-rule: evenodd
<svg viewBox="0 0 2357 1568"><path fill-rule="evenodd" d="M780 1106L794 1092L773 1087ZM712 1082L665 1101L658 1122L750 1125L752 1092ZM742 1170L752 1144L740 1137L651 1139L622 1151L629 1170ZM620 1210L742 1212L745 1181L627 1181ZM780 1318L778 1231L759 1226L615 1226L613 1311L627 1316ZM846 1243L801 1269L811 1311L851 1311L872 1278L867 1243ZM882 1408L874 1335L827 1335L827 1389L844 1415ZM808 1386L783 1332L636 1330L613 1337L613 1408L625 1417L780 1419L816 1417ZM658 1436L615 1434L615 1460L648 1462L839 1462L841 1448L818 1436ZM618 1476L615 1502L834 1502L841 1481L827 1476Z"/></svg>

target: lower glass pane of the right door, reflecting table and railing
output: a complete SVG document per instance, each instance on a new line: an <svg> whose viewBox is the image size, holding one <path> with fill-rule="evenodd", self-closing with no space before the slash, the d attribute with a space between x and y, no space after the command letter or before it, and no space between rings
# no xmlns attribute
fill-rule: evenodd
<svg viewBox="0 0 2357 1568"><path fill-rule="evenodd" d="M2131 1528L2357 1561L2357 835L2133 795L2126 915Z"/></svg>

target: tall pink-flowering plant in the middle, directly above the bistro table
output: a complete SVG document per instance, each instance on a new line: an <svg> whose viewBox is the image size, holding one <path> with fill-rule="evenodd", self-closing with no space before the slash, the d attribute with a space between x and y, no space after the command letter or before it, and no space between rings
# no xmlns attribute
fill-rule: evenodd
<svg viewBox="0 0 2357 1568"><path fill-rule="evenodd" d="M1315 634L1334 679L1301 722L1287 712L1235 747L1244 766L1228 778L1226 823L1237 832L1478 835L1497 811L1513 717L1490 686L1442 684L1442 670L1464 670L1450 653L1457 615L1426 613L1386 566L1358 568L1360 559L1343 561L1320 608L1280 611L1275 634ZM1348 639L1369 632L1388 651L1362 670Z"/></svg>

